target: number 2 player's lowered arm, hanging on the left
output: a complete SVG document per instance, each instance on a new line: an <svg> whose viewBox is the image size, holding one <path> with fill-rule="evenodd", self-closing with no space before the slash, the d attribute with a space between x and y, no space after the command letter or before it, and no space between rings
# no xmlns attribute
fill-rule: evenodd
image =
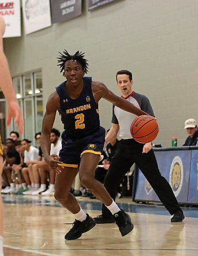
<svg viewBox="0 0 198 256"><path fill-rule="evenodd" d="M50 134L53 128L56 111L59 109L59 96L57 92L54 92L50 95L47 105L46 105L46 113L42 119L42 131L41 131L41 138L40 138L40 146L42 150L43 157L49 166L55 170L56 173L61 173L60 168L58 168L59 156L52 155L50 156Z"/></svg>

